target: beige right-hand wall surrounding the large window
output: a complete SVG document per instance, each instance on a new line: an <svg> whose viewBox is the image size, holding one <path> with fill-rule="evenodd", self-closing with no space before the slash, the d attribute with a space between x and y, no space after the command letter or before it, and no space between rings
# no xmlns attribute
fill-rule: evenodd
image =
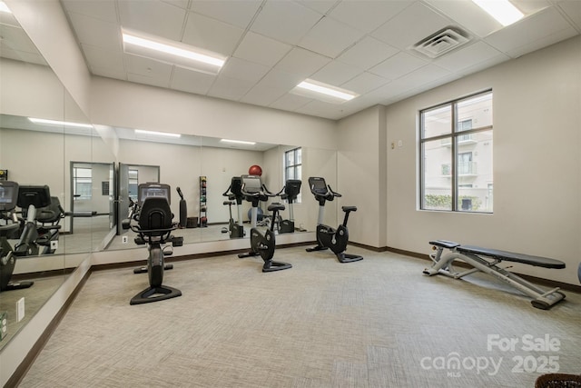
<svg viewBox="0 0 581 388"><path fill-rule="evenodd" d="M515 265L577 284L581 257L581 37L469 75L387 107L390 247L428 253L448 239L553 257L567 269ZM418 112L463 95L494 93L494 214L418 210ZM401 140L393 150L389 143Z"/></svg>

